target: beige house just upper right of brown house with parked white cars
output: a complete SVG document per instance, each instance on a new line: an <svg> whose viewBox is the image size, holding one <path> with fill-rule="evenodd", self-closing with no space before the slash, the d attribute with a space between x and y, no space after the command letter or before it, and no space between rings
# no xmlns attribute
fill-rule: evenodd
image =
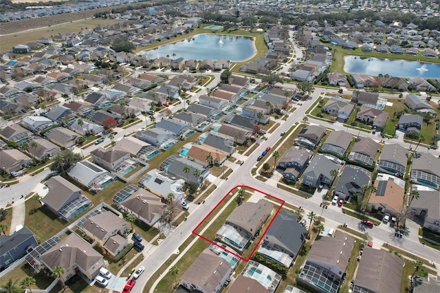
<svg viewBox="0 0 440 293"><path fill-rule="evenodd" d="M80 229L113 257L129 244L122 237L129 231L129 224L111 211L89 217Z"/></svg>

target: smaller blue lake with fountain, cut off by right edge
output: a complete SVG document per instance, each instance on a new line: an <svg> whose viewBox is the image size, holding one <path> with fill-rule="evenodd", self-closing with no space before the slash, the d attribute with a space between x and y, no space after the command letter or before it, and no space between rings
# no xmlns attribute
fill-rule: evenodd
<svg viewBox="0 0 440 293"><path fill-rule="evenodd" d="M345 56L344 71L350 74L369 74L407 78L439 78L440 64L364 56Z"/></svg>

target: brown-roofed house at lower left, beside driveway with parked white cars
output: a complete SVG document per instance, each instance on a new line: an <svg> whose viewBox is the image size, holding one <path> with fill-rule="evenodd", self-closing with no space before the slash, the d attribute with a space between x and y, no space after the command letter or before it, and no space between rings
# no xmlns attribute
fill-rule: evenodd
<svg viewBox="0 0 440 293"><path fill-rule="evenodd" d="M67 281L76 275L83 274L93 280L104 266L104 258L89 243L72 233L58 242L54 247L41 255L41 262L50 271L61 266L65 269L61 279Z"/></svg>

